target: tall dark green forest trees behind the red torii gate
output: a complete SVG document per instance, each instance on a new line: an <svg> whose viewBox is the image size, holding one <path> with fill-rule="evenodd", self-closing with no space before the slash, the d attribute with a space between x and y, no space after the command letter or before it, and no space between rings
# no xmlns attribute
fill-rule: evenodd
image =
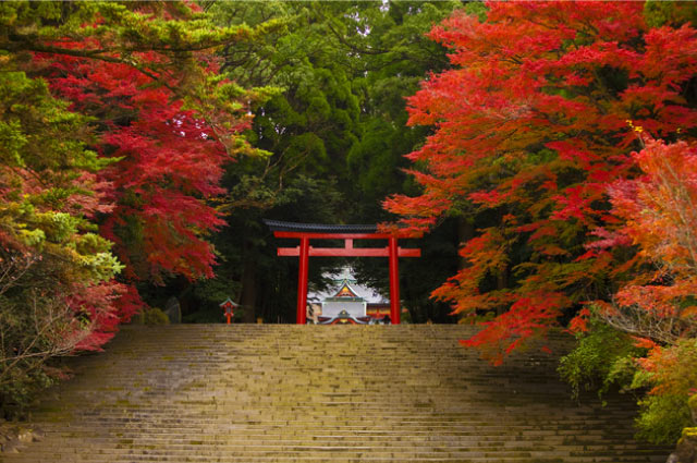
<svg viewBox="0 0 697 463"><path fill-rule="evenodd" d="M218 249L223 260L220 271L229 280L220 287L233 288L242 282L236 294L245 306L269 313L257 297L270 294L267 284L273 291L283 288L276 294L279 300L291 301L290 314L295 300L295 267L289 266L296 264L273 255L277 243L268 232L262 234L260 218L378 222L389 218L381 208L382 198L414 186L400 167L406 166L403 155L420 143L428 130L405 127L404 97L417 89L429 70L447 64L444 49L424 34L456 4L419 1L208 5L222 25L246 24L268 32L244 47L225 47L222 69L227 75L244 85L280 89L255 112L248 135L256 147L272 155L267 159L245 159L228 169L231 194L223 208L230 211L229 231L222 232L225 244L220 243ZM308 179L322 180L311 184ZM298 188L305 188L304 193L299 194ZM316 194L317 188L323 193ZM414 275L413 281L403 281L406 305L423 307L419 309L426 314L417 314L417 319L442 318L449 310L440 305L435 317L435 304L427 297L438 285L438 278L444 279L457 263L452 257L457 229L450 222L445 230L430 236L433 243L427 247L438 249L438 258L449 260L450 266L442 261L432 268L403 264L403 275ZM231 234L253 237L241 243ZM236 244L230 245L232 242ZM266 249L268 261L259 258L261 249ZM239 260L240 256L248 257ZM323 267L338 264L313 260L310 270L317 271L310 278L318 281ZM364 280L387 288L384 261L363 259L359 264ZM430 271L435 268L440 271ZM290 278L291 287L280 280L271 282L269 275L277 272L281 272L279 278ZM220 293L211 291L220 297ZM208 305L213 310L212 301ZM246 319L253 318L247 313Z"/></svg>

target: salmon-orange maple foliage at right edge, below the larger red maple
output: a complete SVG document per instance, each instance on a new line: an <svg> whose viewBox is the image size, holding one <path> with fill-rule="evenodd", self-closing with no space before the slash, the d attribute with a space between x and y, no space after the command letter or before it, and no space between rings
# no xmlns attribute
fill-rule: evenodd
<svg viewBox="0 0 697 463"><path fill-rule="evenodd" d="M608 187L620 221L611 231L601 229L596 234L603 240L591 243L636 245L635 270L613 304L598 305L611 325L643 342L673 344L697 334L697 148L640 137L645 148L632 158L643 174Z"/></svg>

